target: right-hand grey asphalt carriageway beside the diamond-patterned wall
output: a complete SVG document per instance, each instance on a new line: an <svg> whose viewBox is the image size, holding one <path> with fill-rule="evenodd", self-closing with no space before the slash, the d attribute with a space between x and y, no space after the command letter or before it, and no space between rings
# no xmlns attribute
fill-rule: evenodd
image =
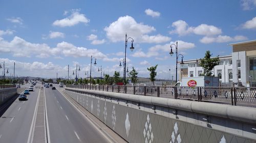
<svg viewBox="0 0 256 143"><path fill-rule="evenodd" d="M45 94L51 142L109 142L58 90Z"/></svg>

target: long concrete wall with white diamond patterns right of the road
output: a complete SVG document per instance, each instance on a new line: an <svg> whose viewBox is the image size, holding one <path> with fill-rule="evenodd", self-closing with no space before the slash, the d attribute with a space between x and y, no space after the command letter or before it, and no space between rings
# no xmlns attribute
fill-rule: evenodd
<svg viewBox="0 0 256 143"><path fill-rule="evenodd" d="M255 108L70 88L65 92L129 142L256 142Z"/></svg>

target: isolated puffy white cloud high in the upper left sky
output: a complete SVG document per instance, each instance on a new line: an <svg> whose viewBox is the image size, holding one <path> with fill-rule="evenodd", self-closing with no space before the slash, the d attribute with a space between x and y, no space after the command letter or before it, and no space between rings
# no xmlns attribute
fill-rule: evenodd
<svg viewBox="0 0 256 143"><path fill-rule="evenodd" d="M74 26L78 23L89 23L90 19L88 19L84 14L80 14L79 10L72 11L72 14L64 19L61 20L55 20L53 22L53 25L60 26L60 27L66 27L66 26Z"/></svg>

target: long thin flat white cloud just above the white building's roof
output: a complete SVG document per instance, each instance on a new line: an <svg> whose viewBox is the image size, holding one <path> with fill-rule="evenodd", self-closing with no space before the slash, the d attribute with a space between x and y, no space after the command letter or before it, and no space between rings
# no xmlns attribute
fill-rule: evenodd
<svg viewBox="0 0 256 143"><path fill-rule="evenodd" d="M231 41L244 41L247 40L247 37L245 36L235 36L235 37L230 37L230 36L222 36L219 35L217 37L203 37L202 39L200 39L201 43L204 44L209 44L209 43L225 43L225 42L231 42Z"/></svg>

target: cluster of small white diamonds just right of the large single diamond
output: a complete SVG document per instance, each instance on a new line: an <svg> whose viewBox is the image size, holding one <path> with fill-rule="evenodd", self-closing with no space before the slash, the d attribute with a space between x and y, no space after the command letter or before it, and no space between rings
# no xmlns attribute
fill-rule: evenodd
<svg viewBox="0 0 256 143"><path fill-rule="evenodd" d="M152 126L150 123L150 116L147 114L147 118L146 118L146 123L145 123L145 128L143 131L143 135L145 138L145 143L151 143L153 142L154 139L154 134L152 131Z"/></svg>

